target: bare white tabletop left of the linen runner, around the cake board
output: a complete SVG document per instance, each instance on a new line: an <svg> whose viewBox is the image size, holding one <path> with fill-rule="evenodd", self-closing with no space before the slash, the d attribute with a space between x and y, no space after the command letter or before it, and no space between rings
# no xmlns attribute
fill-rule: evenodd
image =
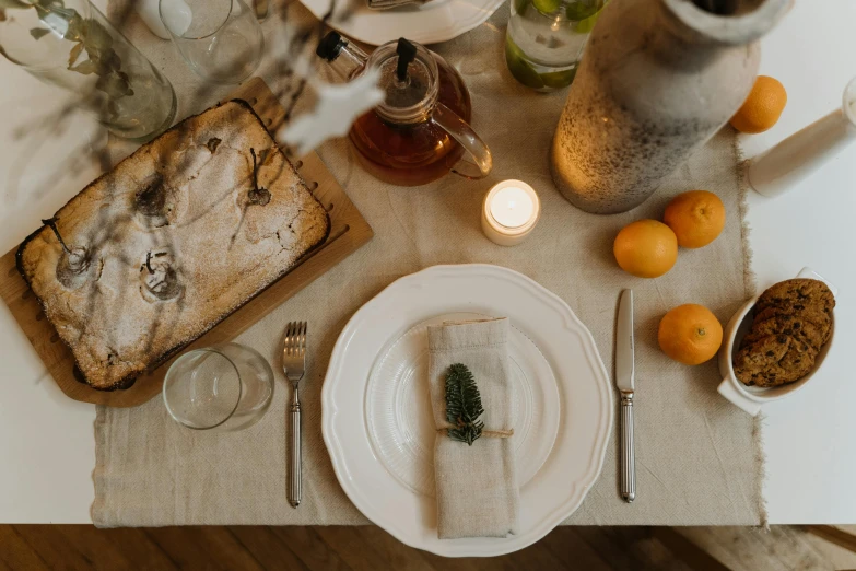
<svg viewBox="0 0 856 571"><path fill-rule="evenodd" d="M96 129L75 118L58 141L17 139L19 126L55 108L57 91L1 57L0 78L0 252L4 254L38 228L39 215L55 212L97 170L89 165L75 176L51 180L49 172L68 158L75 141L85 142ZM0 522L89 522L95 407L62 394L1 302L0 362L0 489L5 490L0 493Z"/></svg>

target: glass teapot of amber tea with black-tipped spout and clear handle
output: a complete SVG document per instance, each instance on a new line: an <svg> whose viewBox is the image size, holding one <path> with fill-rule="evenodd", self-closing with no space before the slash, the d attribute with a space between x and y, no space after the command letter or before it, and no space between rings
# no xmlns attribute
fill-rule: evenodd
<svg viewBox="0 0 856 571"><path fill-rule="evenodd" d="M316 54L343 79L380 70L384 102L359 117L349 137L366 171L399 186L431 183L453 172L483 178L493 160L469 126L470 94L446 60L404 38L379 46L371 57L330 32Z"/></svg>

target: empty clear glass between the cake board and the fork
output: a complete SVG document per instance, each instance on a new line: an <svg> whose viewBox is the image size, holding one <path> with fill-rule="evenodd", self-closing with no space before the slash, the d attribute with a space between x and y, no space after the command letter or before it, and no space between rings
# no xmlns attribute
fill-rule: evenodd
<svg viewBox="0 0 856 571"><path fill-rule="evenodd" d="M273 397L273 371L258 351L225 343L189 351L166 373L169 416L196 430L241 430L265 416Z"/></svg>

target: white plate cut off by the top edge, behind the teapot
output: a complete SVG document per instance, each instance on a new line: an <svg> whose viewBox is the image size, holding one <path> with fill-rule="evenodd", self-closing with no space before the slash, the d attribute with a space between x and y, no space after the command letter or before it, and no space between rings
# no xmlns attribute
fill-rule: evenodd
<svg viewBox="0 0 856 571"><path fill-rule="evenodd" d="M331 2L301 1L318 19L324 18ZM503 0L431 0L392 10L370 10L366 0L351 2L354 10L349 18L342 18L348 2L339 2L327 23L345 36L373 46L399 37L420 44L446 42L482 24L503 4Z"/></svg>

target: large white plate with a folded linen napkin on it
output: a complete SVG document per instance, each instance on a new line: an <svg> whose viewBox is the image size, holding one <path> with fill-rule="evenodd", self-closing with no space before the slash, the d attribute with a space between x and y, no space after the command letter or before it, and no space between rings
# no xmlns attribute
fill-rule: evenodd
<svg viewBox="0 0 856 571"><path fill-rule="evenodd" d="M473 422L497 433L471 446L438 432L456 364L485 386L486 412ZM594 339L570 307L481 265L429 268L364 305L337 341L321 398L325 443L351 501L403 543L446 556L516 550L571 515L600 471L613 409ZM465 490L481 500L456 506ZM471 535L466 505L497 520L479 535L503 539Z"/></svg>

